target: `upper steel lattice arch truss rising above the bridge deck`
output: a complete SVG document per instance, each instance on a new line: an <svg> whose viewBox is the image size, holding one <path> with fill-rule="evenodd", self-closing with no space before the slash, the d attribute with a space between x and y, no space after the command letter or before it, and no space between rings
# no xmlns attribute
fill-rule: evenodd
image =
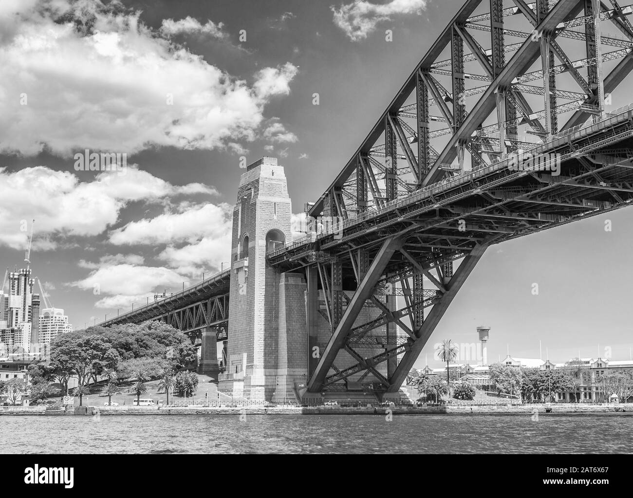
<svg viewBox="0 0 633 498"><path fill-rule="evenodd" d="M513 0L513 2L515 6L503 8L503 0L489 0L490 13L476 16L472 14L481 3L480 0L467 1L462 6L411 73L348 165L337 175L327 192L315 202L310 210L311 216L322 213L323 205L327 204L327 199L329 199L329 192L334 189L342 189L343 192L348 192L344 195L353 196L352 192L346 190L346 185L351 185L349 178L360 178L360 184L356 184L358 190L363 187L363 180L365 180L363 177L367 177L370 196L363 199L363 196L358 197L358 192L356 192L356 199L360 199L357 212L380 209L386 202L399 199L406 194L406 189L398 189L398 185L403 184L398 177L403 174L411 173L411 180L405 181L410 182L410 185L415 188L430 185L442 177L451 176L463 170L465 151L470 153L473 167L479 168L490 162L494 163L499 154L523 148L520 140L517 140L518 126L522 123L532 127L534 133L542 137L558 130L558 115L561 113L580 109L573 116L573 121L568 121L566 125L572 126L572 122L578 124L579 121L591 116L591 112L587 113L588 107L596 106L599 111L599 101L602 98L599 95L603 93L601 78L592 78L590 75L587 81L580 75L578 68L584 66L589 68L589 73L599 75L598 68L601 60L604 59L600 51L599 20L610 20L623 32L627 32L630 23L626 20L626 16L633 9L630 6L609 9L604 4L598 6L596 0L559 0L549 3L546 0L539 0L537 3L530 4L525 3L524 0ZM587 4L590 7L587 7ZM591 11L591 6L594 4L595 8ZM583 10L585 11L582 12ZM595 12L598 10L601 12L596 15ZM506 29L503 20L508 15L527 20L532 33ZM489 25L482 23L486 21ZM570 30L575 26L584 26L585 32ZM470 28L490 30L491 49L484 49L468 32ZM506 46L504 39L506 34L527 37L527 39L522 43ZM532 40L534 34L536 38ZM557 44L558 35L583 40L587 58L581 61L587 62L579 66L577 61L571 61ZM630 53L630 48L633 47L633 44L627 45L625 40L612 39L611 42L617 42L617 46L624 47L623 53L617 54L619 57L625 56L627 52ZM437 61L439 54L447 47L451 58L446 61ZM470 51L468 54L465 53L466 47ZM513 54L506 63L508 56L505 54L508 52L513 52ZM554 57L560 59L562 64L555 66ZM543 68L539 72L541 75L537 77L544 76L544 90L541 90L545 94L542 104L544 110L535 112L520 93L522 90L518 87L518 80L539 58L542 60ZM628 60L629 56L626 58ZM467 72L464 66L465 61L478 61L486 76L479 77ZM432 72L437 73L441 66L451 66L448 71L440 71L451 77L450 84L446 87L432 75ZM629 63L624 63L611 75L611 87L624 78L630 71L629 66ZM543 75L543 72L546 74ZM582 93L566 92L557 88L556 75L561 72L569 73ZM482 87L483 90L466 88L465 81L473 77L487 79L489 85ZM590 86L594 89L592 90ZM476 91L473 93L473 90ZM606 80L604 91L607 91ZM472 97L477 93L483 94L479 101L473 106L467 106L463 97ZM577 94L576 97L572 97L574 93ZM413 96L415 103L403 107L410 96ZM587 101L581 103L583 96ZM557 103L559 98L570 98L572 102L561 106ZM430 105L436 105L441 116L430 116ZM484 127L484 120L494 108L498 109L496 128ZM415 112L410 112L414 110ZM415 118L415 126L408 127L403 118ZM432 131L430 130L431 121L444 121L448 124L448 128ZM488 132L483 136L479 134L482 128L488 128ZM491 136L489 140L486 135L490 133L498 133L499 136ZM375 145L381 135L384 135L384 144ZM430 140L442 135L450 135L449 142L437 152L430 145ZM417 157L410 147L410 144L415 142L418 143L415 150ZM367 163L370 155L375 158L384 157L385 165L381 165L381 168L372 168L372 165ZM485 156L488 156L488 159ZM455 159L457 164L453 166ZM406 160L408 163L406 168L399 167L398 160ZM374 173L373 178L370 178L372 173L367 169L379 172ZM356 175L354 175L354 170ZM382 175L380 170L384 170Z"/></svg>

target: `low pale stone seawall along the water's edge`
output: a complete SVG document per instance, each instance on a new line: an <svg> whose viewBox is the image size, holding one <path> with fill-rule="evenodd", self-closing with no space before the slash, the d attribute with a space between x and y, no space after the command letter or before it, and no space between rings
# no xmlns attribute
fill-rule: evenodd
<svg viewBox="0 0 633 498"><path fill-rule="evenodd" d="M546 411L549 410L549 411ZM153 406L9 406L0 408L2 415L39 415L39 416L142 416L142 415L385 415L391 410L393 415L491 415L491 414L534 414L539 416L551 414L631 414L633 403L627 404L589 404L589 403L552 403L546 406L539 404L482 404L482 405L441 405L441 406L265 406L248 404L244 406L169 406L156 408Z"/></svg>

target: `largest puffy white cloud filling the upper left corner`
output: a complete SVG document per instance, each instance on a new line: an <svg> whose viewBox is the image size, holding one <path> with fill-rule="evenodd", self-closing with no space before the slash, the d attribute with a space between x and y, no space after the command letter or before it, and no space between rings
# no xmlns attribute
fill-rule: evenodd
<svg viewBox="0 0 633 498"><path fill-rule="evenodd" d="M223 149L260 135L266 104L289 94L298 72L285 63L251 82L232 77L119 2L12 0L1 13L4 153ZM165 26L187 29L196 20Z"/></svg>

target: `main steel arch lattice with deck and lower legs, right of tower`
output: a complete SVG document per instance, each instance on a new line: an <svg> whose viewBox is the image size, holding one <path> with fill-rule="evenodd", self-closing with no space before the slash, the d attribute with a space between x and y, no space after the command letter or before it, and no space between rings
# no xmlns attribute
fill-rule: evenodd
<svg viewBox="0 0 633 498"><path fill-rule="evenodd" d="M363 192L367 195L360 220L349 220L351 223L346 225L339 239L325 235L311 247L295 250L291 246L284 254L270 255L272 265L290 271L299 268L310 271L315 263L332 265L336 260L341 264L342 273L347 275L348 283L351 271L356 278L353 297L344 294L346 302L342 306L341 320L330 319L332 337L310 377L310 392L317 392L323 386L334 389L337 382L361 372L364 372L362 378L373 375L384 389L397 390L454 294L489 244L603 213L627 205L633 199L633 171L630 171L633 154L617 152L617 147L628 151L633 146L630 144L633 137L630 111L628 117L606 120L603 129L591 128L565 137L551 136L558 127L558 114L575 111L579 101L586 108L596 104L601 94L601 78L599 72L597 77L591 76L592 67L599 68L602 60L624 56L624 61L605 78L605 91L621 82L630 71L629 66L633 64L630 49L624 47L617 55L600 54L595 44L590 43L600 37L596 20L611 19L611 14L605 16L603 11L596 16L594 8L589 11L591 15L578 18L586 7L585 0L559 0L549 4L539 0L530 5L515 0L517 6L510 9L511 15L527 20L536 37L506 46L505 35L530 34L506 30L503 18L508 15L508 9L503 9L501 0L489 1L492 14L487 20L490 21L492 49L487 51L468 33L469 24L482 18L469 17L466 11L470 9L472 13L474 6L467 2L429 51L432 57L427 54L430 58L418 65L349 165L311 211L317 215L327 209L330 192L344 192L350 187L356 189L357 201L363 199ZM587 58L574 62L556 43L560 30L568 30L573 25L584 26L585 33L577 39L582 40L587 50ZM626 27L625 23L620 25ZM465 48L470 54L464 54ZM444 49L449 50L451 58L448 64L441 61L442 67L451 67L439 72L440 65L435 58ZM510 52L513 53L505 55ZM554 65L554 57L560 59L560 65ZM528 73L539 58L541 70ZM487 86L465 87L465 81L472 76L466 73L467 60L477 61L482 67L487 76L481 80L487 78ZM580 75L579 68L588 68L587 80ZM580 92L557 88L556 75L563 72L577 82ZM450 84L442 85L436 74L449 77ZM535 112L522 92L529 93L532 88L525 82L541 78L542 89L534 87L531 92L542 96L545 110ZM408 98L405 92L411 93L413 104L403 106ZM477 94L482 96L474 106L466 106L460 98ZM571 102L559 104L557 98ZM437 106L441 116L430 116L430 105ZM498 109L496 125L484 126L484 120L495 107ZM596 107L599 111L599 105ZM585 109L582 113L591 115ZM407 125L406 119L415 119L415 125ZM431 131L432 121L444 122L447 128ZM536 145L536 142L530 144L517 138L518 126L523 123L529 124L534 134L545 142L538 153L561 154L565 174L560 178L542 172L508 169L505 158L508 151ZM496 132L499 135L492 135ZM375 144L383 134L384 144ZM450 135L449 141L438 152L430 140L443 134ZM415 142L418 142L417 158L411 147ZM473 171L468 174L462 168L464 149L473 158ZM596 149L606 152L593 154ZM381 157L385 158L384 164L378 159ZM451 165L455 158L458 168ZM398 167L398 160L406 161L405 168ZM413 177L409 185L403 180L402 175L406 173ZM360 213L361 204L358 208ZM385 245L393 244L394 240L399 240L401 245L387 257ZM366 266L367 271L360 270L361 252L373 261ZM453 261L461 258L461 265L454 268ZM380 265L376 266L376 261L381 261ZM436 271L437 276L430 270ZM432 290L436 294L430 301L425 297L423 275L437 287ZM368 278L373 283L369 283ZM387 303L376 302L374 284L380 282L399 282L405 308L396 310ZM326 289L329 283L324 285ZM349 290L349 286L346 289ZM330 292L327 290L326 296ZM328 300L326 297L326 306L330 306ZM382 313L367 323L354 323L368 301ZM425 312L424 308L430 305L430 312ZM410 325L404 323L406 318ZM408 337L394 336L390 327L396 324ZM368 333L378 327L386 327L385 340L380 342L384 351L364 358L357 349L373 349L378 344L377 336ZM348 368L335 368L335 358L340 351L348 352L356 363ZM399 355L403 356L398 363ZM381 362L387 362L386 376L384 371L380 373L376 369ZM339 361L336 363L341 366Z"/></svg>

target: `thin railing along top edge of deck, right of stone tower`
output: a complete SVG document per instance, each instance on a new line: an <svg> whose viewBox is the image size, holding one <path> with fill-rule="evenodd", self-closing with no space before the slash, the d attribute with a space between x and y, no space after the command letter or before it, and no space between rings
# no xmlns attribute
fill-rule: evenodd
<svg viewBox="0 0 633 498"><path fill-rule="evenodd" d="M603 130L605 128L608 128L613 123L624 121L625 117L626 119L630 119L632 116L631 114L632 109L633 109L633 104L623 106L621 108L616 109L615 111L611 113L608 113L608 115L605 115L605 117L602 120L596 123L590 123L588 125L586 124L577 125L573 128L569 128L568 130L563 130L562 132L558 134L551 135L551 137L549 137L549 139L546 142L542 142L541 144L535 144L534 147L531 147L530 149L525 149L525 151L523 152L534 154L539 151L541 152L546 151L548 149L551 149L555 145L556 142L560 144L560 142L568 142L570 140L582 137L582 135L586 133L586 130L590 130L591 132ZM380 209L367 211L359 216L356 216L356 218L350 218L348 220L343 221L342 230L345 230L346 228L349 228L349 227L352 227L353 225L361 223L362 221L365 221L368 218L373 218L374 216L380 215L382 213L386 213L387 211L390 211L396 206L404 206L406 204L410 204L411 202L416 202L422 199L423 197L430 197L433 194L451 189L452 187L455 187L456 185L459 185L459 184L463 184L464 182L470 182L473 179L473 175L479 177L482 175L486 175L488 173L492 173L496 170L507 168L510 163L510 160L511 158L509 157L499 159L498 161L492 163L491 165L479 166L478 168L474 168L469 171L464 171L463 173L460 173L458 175L453 175L452 177L445 178L444 180L435 182L434 184L427 185L426 187L422 187L422 189L415 190L414 192L411 192L410 194L407 194L406 196L399 197L398 199L393 199L392 201L387 202ZM333 235L334 233L337 233L340 230L341 230L341 227L327 228L323 230L322 232L316 234L316 239L326 237L327 235ZM284 247L280 249L268 252L267 256L279 256L280 254L283 254L286 251L295 249L296 247L299 247L299 246L309 244L311 242L311 239L312 237L306 235L306 237L302 237L299 240L286 244Z"/></svg>

